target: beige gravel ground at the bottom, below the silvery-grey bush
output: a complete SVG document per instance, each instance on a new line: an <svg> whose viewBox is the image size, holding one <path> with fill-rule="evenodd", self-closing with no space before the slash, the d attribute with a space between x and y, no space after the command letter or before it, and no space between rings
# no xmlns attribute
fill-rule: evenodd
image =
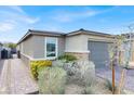
<svg viewBox="0 0 134 101"><path fill-rule="evenodd" d="M96 77L96 81L92 85L92 94L111 94L111 91L106 87L106 80ZM69 83L66 86L65 94L85 94L85 87L73 83Z"/></svg>

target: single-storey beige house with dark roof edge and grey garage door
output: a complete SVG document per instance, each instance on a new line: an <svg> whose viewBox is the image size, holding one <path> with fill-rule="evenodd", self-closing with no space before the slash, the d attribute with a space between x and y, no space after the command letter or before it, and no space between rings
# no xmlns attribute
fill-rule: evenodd
<svg viewBox="0 0 134 101"><path fill-rule="evenodd" d="M112 35L82 28L68 34L29 29L17 42L17 50L26 64L31 60L54 60L63 53L71 53L104 66L109 60L108 46L112 42Z"/></svg>

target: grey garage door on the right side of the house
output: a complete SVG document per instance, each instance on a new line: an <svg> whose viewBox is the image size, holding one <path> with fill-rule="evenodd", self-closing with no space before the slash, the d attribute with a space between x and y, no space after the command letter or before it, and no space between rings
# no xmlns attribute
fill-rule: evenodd
<svg viewBox="0 0 134 101"><path fill-rule="evenodd" d="M108 42L89 41L88 47L91 51L90 60L95 63L95 67L106 67L109 64Z"/></svg>

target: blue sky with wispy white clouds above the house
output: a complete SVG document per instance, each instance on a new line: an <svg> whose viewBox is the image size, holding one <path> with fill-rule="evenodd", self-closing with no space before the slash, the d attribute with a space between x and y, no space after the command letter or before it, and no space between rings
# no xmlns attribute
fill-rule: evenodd
<svg viewBox="0 0 134 101"><path fill-rule="evenodd" d="M134 7L23 5L0 7L0 41L17 42L28 29L121 34L134 24Z"/></svg>

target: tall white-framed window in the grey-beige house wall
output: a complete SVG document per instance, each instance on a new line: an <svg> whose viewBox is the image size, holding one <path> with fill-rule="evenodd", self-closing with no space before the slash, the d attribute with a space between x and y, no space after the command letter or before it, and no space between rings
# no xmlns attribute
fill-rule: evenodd
<svg viewBox="0 0 134 101"><path fill-rule="evenodd" d="M45 38L45 58L53 59L57 56L57 38Z"/></svg>

